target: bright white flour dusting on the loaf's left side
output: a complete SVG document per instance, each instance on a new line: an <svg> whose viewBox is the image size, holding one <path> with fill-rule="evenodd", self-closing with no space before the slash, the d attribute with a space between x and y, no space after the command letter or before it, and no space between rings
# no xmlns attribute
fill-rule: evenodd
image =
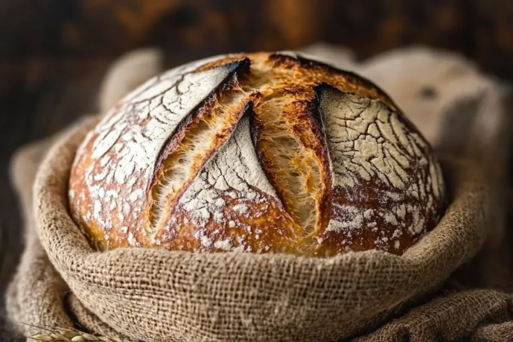
<svg viewBox="0 0 513 342"><path fill-rule="evenodd" d="M75 160L84 157L81 153L92 144L89 167L83 174L86 187L80 197L87 200L78 206L89 202L86 219L95 220L106 234L120 224L146 233L148 217L137 212L147 206L147 190L160 151L183 120L233 71L232 65L193 72L208 61L150 79L113 108L78 149ZM128 243L140 246L133 233Z"/></svg>

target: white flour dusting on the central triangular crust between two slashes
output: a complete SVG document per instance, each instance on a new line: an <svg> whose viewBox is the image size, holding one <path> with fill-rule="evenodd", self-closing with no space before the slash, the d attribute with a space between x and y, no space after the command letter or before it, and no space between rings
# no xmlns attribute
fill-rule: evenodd
<svg viewBox="0 0 513 342"><path fill-rule="evenodd" d="M229 197L233 205L228 206ZM180 196L176 211L187 213L191 224L195 227L193 236L199 240L203 248L220 248L225 251L240 249L251 251L243 241L235 239L223 240L213 245L207 237L206 226L214 221L221 226L246 229L240 220L229 219L228 212L235 216L247 216L250 206L260 204L255 216L265 215L269 209L269 200L279 206L280 200L264 174L257 154L251 142L249 118L245 115L237 124L228 142L209 160L192 184ZM180 230L176 222L168 221L166 231L171 237Z"/></svg>

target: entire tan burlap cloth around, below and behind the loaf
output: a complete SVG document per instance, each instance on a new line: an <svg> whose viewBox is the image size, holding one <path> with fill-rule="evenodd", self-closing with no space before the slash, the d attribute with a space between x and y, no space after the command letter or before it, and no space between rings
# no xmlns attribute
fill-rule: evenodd
<svg viewBox="0 0 513 342"><path fill-rule="evenodd" d="M508 88L461 57L425 49L365 63L344 49L305 51L376 81L443 152L450 204L436 229L402 256L98 253L70 219L65 195L76 147L101 115L91 116L13 157L26 239L7 293L17 329L184 342L513 340ZM114 65L100 112L158 72L159 60L143 51Z"/></svg>

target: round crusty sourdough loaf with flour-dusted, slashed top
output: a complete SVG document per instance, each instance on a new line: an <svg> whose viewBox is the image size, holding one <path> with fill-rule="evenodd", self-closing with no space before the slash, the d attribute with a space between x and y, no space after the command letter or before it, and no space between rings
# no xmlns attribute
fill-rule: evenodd
<svg viewBox="0 0 513 342"><path fill-rule="evenodd" d="M87 135L69 180L102 251L401 254L443 204L436 157L382 90L289 51L150 79Z"/></svg>

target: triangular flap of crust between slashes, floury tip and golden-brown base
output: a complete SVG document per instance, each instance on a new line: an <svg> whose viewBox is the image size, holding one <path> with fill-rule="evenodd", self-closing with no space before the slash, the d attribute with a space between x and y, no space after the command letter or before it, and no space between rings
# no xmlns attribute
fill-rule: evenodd
<svg viewBox="0 0 513 342"><path fill-rule="evenodd" d="M158 236L169 249L295 250L298 227L260 167L247 115L176 202Z"/></svg>

